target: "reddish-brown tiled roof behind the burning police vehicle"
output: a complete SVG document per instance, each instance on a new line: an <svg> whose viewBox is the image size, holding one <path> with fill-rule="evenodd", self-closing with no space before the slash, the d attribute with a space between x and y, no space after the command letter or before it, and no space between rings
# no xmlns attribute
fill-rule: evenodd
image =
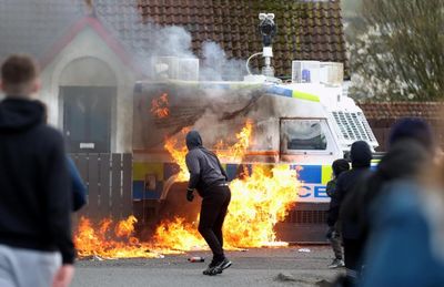
<svg viewBox="0 0 444 287"><path fill-rule="evenodd" d="M127 0L128 1L128 0ZM119 2L127 2L119 1ZM98 12L110 21L113 16ZM139 0L145 21L161 25L183 25L192 34L193 51L201 55L202 43L215 41L229 58L246 59L262 51L258 32L260 12L275 13L274 68L276 74L291 74L292 60L343 62L345 42L340 1L258 0ZM118 14L114 17L119 17ZM111 21L121 31L123 21ZM144 39L150 41L150 39ZM255 63L260 64L259 60Z"/></svg>

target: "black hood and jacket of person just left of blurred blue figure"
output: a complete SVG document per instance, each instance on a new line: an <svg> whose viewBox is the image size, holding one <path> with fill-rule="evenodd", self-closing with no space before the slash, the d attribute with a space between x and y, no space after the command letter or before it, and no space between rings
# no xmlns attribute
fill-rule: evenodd
<svg viewBox="0 0 444 287"><path fill-rule="evenodd" d="M345 198L354 191L363 178L370 175L372 151L366 142L359 141L352 144L351 148L352 170L340 175L335 188L335 197L332 198L327 224L333 226L339 217L340 209ZM346 218L342 221L342 233L345 238L353 238L356 227L349 224Z"/></svg>

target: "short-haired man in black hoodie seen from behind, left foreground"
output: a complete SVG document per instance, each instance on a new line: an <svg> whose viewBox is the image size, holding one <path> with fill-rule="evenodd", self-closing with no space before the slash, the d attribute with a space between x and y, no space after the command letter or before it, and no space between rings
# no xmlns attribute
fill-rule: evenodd
<svg viewBox="0 0 444 287"><path fill-rule="evenodd" d="M62 135L44 123L29 57L1 66L0 286L68 286L73 276L71 189Z"/></svg>

